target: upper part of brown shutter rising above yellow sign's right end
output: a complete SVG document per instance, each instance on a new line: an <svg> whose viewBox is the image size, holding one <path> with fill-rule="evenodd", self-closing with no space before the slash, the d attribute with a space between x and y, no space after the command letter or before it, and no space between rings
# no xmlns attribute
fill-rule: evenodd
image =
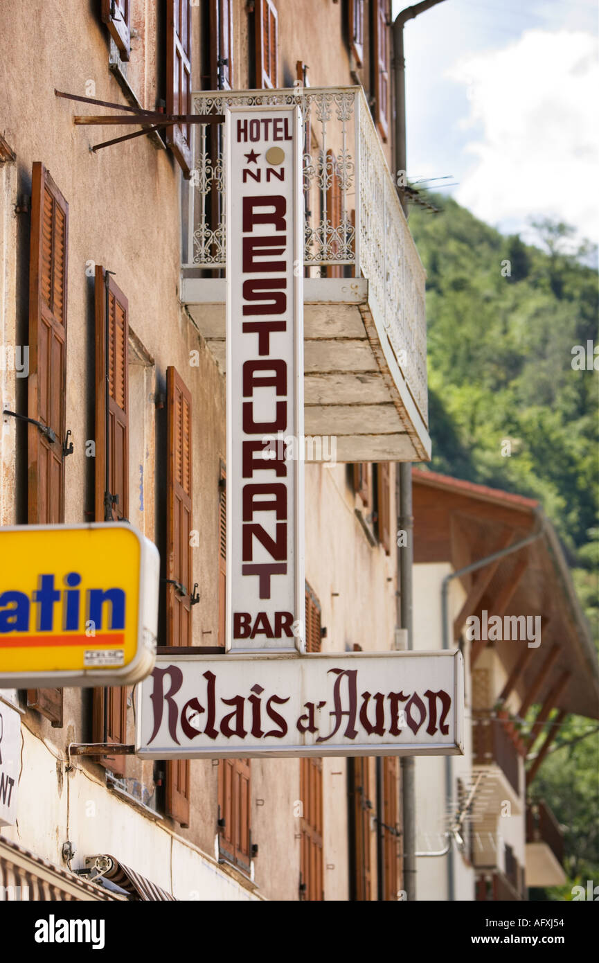
<svg viewBox="0 0 599 963"><path fill-rule="evenodd" d="M117 496L112 520L129 513L129 302L110 275L106 361L106 292L104 269L95 268L95 520L104 521L106 489L106 377L109 378L109 481Z"/></svg>

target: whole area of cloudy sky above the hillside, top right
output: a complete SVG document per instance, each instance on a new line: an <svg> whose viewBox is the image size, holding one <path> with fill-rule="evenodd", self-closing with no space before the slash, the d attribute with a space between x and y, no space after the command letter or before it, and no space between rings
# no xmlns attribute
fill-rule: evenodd
<svg viewBox="0 0 599 963"><path fill-rule="evenodd" d="M526 240L551 217L599 242L596 0L444 0L404 53L408 178L453 175L448 194Z"/></svg>

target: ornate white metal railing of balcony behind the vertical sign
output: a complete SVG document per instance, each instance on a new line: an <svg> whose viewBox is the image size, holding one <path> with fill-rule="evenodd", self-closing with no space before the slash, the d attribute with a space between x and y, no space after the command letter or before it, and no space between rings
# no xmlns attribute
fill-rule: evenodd
<svg viewBox="0 0 599 963"><path fill-rule="evenodd" d="M308 277L364 277L409 392L428 424L425 271L360 87L203 91L197 114L225 105L294 105L303 121L303 263ZM226 224L221 125L198 124L184 195L184 276L224 271Z"/></svg>

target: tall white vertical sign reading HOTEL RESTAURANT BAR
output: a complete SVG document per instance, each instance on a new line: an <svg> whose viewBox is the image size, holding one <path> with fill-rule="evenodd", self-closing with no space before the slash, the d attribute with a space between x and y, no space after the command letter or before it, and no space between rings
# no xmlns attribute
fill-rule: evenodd
<svg viewBox="0 0 599 963"><path fill-rule="evenodd" d="M297 106L226 111L226 648L234 651L304 648L301 143Z"/></svg>

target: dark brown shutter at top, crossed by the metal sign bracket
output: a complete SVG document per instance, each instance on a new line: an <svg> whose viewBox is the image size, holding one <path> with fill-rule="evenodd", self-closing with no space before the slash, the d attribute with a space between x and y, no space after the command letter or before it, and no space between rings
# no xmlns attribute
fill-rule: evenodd
<svg viewBox="0 0 599 963"><path fill-rule="evenodd" d="M167 114L192 113L190 0L167 0ZM193 166L190 124L167 128L167 143L185 177Z"/></svg>

